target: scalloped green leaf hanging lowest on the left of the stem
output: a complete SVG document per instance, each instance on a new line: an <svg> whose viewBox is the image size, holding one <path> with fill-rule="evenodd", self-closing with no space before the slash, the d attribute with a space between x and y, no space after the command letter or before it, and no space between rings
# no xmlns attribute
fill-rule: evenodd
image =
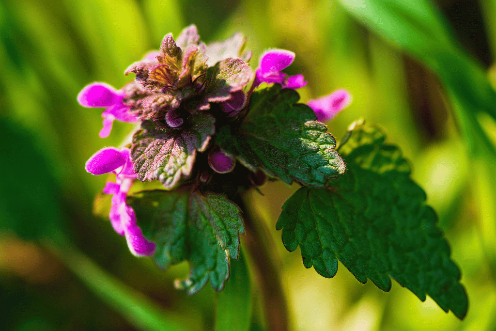
<svg viewBox="0 0 496 331"><path fill-rule="evenodd" d="M241 211L227 198L188 191L143 191L128 197L144 236L157 244L154 260L161 268L189 262L189 275L176 280L189 294L210 279L220 291L229 277L229 258L238 259L244 233Z"/></svg>

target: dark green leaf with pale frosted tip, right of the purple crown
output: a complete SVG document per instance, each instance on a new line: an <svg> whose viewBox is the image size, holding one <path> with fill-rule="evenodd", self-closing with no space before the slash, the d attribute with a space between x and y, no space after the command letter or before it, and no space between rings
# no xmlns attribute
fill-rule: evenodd
<svg viewBox="0 0 496 331"><path fill-rule="evenodd" d="M263 169L288 184L324 186L345 165L332 134L310 107L296 103L299 98L279 84L263 85L251 96L246 121L239 129L221 128L216 143L252 171Z"/></svg>

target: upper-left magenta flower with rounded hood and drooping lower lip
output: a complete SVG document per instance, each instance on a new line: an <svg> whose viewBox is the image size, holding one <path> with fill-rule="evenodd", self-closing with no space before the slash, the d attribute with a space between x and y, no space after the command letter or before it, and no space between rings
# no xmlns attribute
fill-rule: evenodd
<svg viewBox="0 0 496 331"><path fill-rule="evenodd" d="M114 120L121 122L137 122L133 115L129 113L129 107L124 105L124 92L116 90L107 83L94 82L86 85L77 95L77 102L83 107L95 108L105 107L102 113L103 128L100 130L100 137L108 137L112 130Z"/></svg>

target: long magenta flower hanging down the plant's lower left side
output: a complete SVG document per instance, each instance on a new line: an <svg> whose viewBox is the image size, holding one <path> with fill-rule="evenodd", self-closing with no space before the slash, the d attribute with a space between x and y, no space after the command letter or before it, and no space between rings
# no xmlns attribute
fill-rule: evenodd
<svg viewBox="0 0 496 331"><path fill-rule="evenodd" d="M112 194L110 221L114 230L125 236L127 246L135 256L151 256L155 253L155 243L146 240L143 232L136 225L134 210L125 202L127 193L136 178L128 148L119 150L115 147L100 149L86 161L86 171L93 175L109 172L116 174L116 182L107 182L103 192Z"/></svg>

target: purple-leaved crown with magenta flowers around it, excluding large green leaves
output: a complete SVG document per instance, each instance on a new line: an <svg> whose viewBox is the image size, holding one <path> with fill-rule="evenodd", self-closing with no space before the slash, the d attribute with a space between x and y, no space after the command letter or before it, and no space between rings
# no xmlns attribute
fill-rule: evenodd
<svg viewBox="0 0 496 331"><path fill-rule="evenodd" d="M135 78L123 88L95 82L79 93L82 106L105 108L102 138L110 134L114 120L141 123L129 148L103 148L86 163L86 170L94 175L116 174L116 183L108 182L104 192L113 195L112 225L125 236L134 255L152 255L155 244L144 238L126 203L133 180L159 180L170 190L207 183L212 174L232 173L237 167L235 156L215 145L211 137L221 126L243 121L250 96L261 83L289 89L307 84L303 75L288 76L282 71L295 58L287 50L264 52L252 70L248 64L251 52L243 52L245 42L237 33L205 45L191 25L176 39L166 35L159 51L130 65L125 74L133 73ZM327 121L350 101L346 90L338 90L310 100L308 106L317 120ZM252 186L263 184L266 178L261 170L244 174Z"/></svg>

